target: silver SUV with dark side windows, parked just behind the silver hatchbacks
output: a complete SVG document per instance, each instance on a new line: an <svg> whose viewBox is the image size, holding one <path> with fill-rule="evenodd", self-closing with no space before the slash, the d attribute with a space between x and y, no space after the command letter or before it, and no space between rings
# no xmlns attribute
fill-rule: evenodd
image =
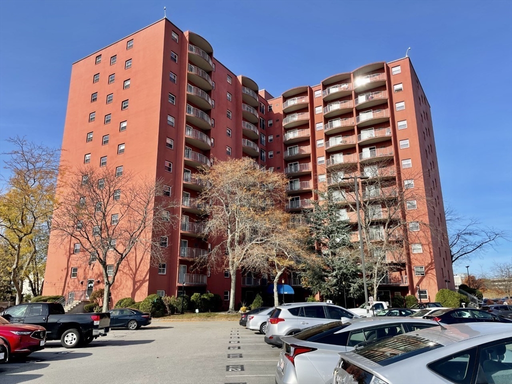
<svg viewBox="0 0 512 384"><path fill-rule="evenodd" d="M281 336L293 335L305 328L335 320L359 317L348 309L328 303L292 303L275 307L267 322L265 343L281 347Z"/></svg>

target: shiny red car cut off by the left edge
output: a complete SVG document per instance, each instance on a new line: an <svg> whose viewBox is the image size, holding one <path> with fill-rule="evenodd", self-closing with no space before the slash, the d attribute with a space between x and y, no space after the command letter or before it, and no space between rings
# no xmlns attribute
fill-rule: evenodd
<svg viewBox="0 0 512 384"><path fill-rule="evenodd" d="M0 339L10 356L28 356L45 348L46 329L31 324L11 324L0 316Z"/></svg>

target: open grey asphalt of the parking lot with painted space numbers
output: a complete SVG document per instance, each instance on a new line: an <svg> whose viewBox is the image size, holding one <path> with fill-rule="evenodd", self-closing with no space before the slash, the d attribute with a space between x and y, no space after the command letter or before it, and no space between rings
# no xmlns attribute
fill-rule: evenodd
<svg viewBox="0 0 512 384"><path fill-rule="evenodd" d="M48 342L0 365L0 382L264 384L274 382L279 351L238 322L154 322L111 330L79 349Z"/></svg>

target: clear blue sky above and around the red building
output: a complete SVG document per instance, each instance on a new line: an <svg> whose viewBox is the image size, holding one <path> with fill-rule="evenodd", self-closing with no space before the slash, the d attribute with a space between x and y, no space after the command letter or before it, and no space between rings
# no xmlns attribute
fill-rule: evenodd
<svg viewBox="0 0 512 384"><path fill-rule="evenodd" d="M61 144L71 63L163 17L274 96L410 57L432 108L445 203L512 227L512 2L0 2L0 141ZM501 242L473 271L510 261ZM462 262L456 272L464 272Z"/></svg>

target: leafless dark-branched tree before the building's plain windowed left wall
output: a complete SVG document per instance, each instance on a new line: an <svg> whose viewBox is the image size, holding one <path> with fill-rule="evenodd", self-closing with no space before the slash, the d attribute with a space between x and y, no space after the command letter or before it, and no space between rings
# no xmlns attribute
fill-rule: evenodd
<svg viewBox="0 0 512 384"><path fill-rule="evenodd" d="M65 177L52 230L62 240L71 237L79 244L72 255L77 261L101 266L106 311L119 267L132 253L148 252L153 265L166 261L167 234L177 222L172 212L176 203L166 198L160 181L119 169L82 168Z"/></svg>

